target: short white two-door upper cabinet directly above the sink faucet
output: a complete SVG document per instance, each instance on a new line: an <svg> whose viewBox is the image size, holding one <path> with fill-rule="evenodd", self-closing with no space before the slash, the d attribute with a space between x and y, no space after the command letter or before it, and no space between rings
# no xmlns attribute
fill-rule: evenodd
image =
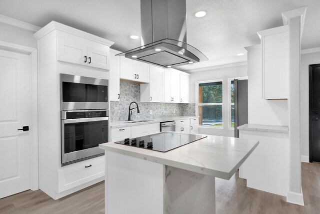
<svg viewBox="0 0 320 214"><path fill-rule="evenodd" d="M148 64L120 57L120 79L148 83Z"/></svg>

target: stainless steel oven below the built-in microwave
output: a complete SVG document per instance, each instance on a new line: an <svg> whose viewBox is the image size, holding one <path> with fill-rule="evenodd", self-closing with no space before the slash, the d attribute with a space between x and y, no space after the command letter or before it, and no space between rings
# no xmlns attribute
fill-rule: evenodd
<svg viewBox="0 0 320 214"><path fill-rule="evenodd" d="M100 143L108 142L108 111L61 111L61 165L103 155Z"/></svg>

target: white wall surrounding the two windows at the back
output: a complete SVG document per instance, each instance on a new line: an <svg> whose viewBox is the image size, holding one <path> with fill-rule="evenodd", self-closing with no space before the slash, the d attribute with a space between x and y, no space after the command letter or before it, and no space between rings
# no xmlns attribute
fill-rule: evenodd
<svg viewBox="0 0 320 214"><path fill-rule="evenodd" d="M208 71L199 71L191 73L190 76L190 103L195 103L195 82L203 80L223 79L223 129L221 128L201 128L200 134L220 135L220 136L234 136L234 130L228 129L228 78L244 77L246 74L246 65L233 66L227 68L219 68Z"/></svg>

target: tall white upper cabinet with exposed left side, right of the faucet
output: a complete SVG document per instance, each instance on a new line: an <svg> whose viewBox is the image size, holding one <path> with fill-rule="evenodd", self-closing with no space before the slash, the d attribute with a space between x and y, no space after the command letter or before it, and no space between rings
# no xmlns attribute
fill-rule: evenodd
<svg viewBox="0 0 320 214"><path fill-rule="evenodd" d="M140 102L164 102L164 69L150 65L150 82L140 85Z"/></svg>

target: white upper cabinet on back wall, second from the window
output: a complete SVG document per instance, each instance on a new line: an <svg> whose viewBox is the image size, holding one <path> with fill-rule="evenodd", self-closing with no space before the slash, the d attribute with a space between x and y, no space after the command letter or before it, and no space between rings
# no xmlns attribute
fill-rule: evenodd
<svg viewBox="0 0 320 214"><path fill-rule="evenodd" d="M164 69L164 102L179 103L180 91L179 71L167 68Z"/></svg>

